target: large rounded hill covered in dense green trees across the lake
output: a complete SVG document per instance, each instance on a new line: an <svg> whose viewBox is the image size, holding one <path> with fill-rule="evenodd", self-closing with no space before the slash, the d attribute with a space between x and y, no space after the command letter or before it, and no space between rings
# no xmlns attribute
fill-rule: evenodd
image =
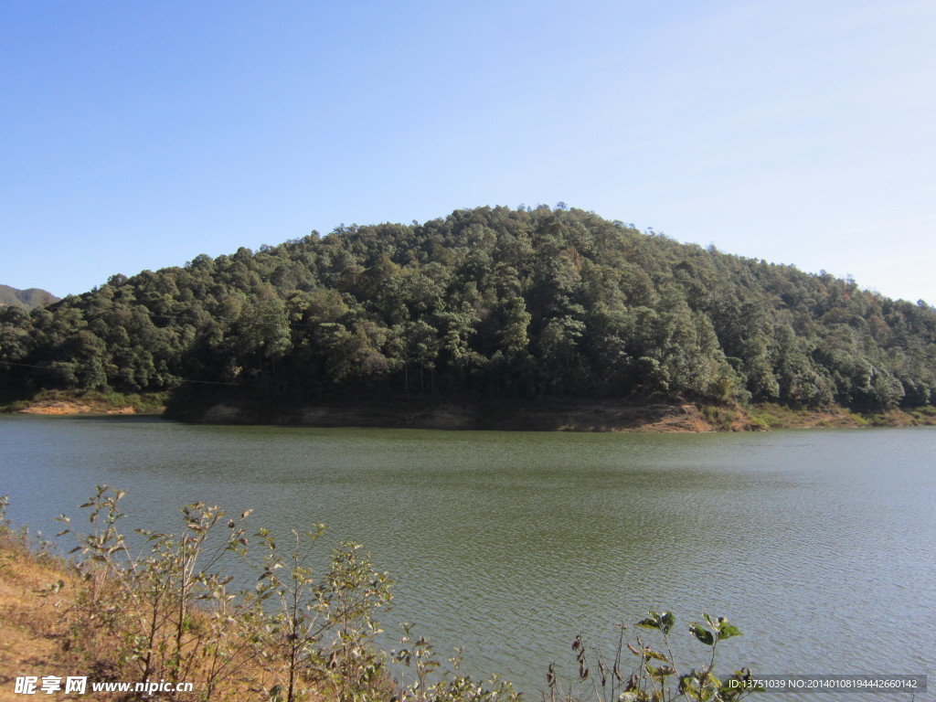
<svg viewBox="0 0 936 702"><path fill-rule="evenodd" d="M834 261L830 262L834 263ZM339 227L0 310L0 383L334 397L936 402L936 310L591 212Z"/></svg>

